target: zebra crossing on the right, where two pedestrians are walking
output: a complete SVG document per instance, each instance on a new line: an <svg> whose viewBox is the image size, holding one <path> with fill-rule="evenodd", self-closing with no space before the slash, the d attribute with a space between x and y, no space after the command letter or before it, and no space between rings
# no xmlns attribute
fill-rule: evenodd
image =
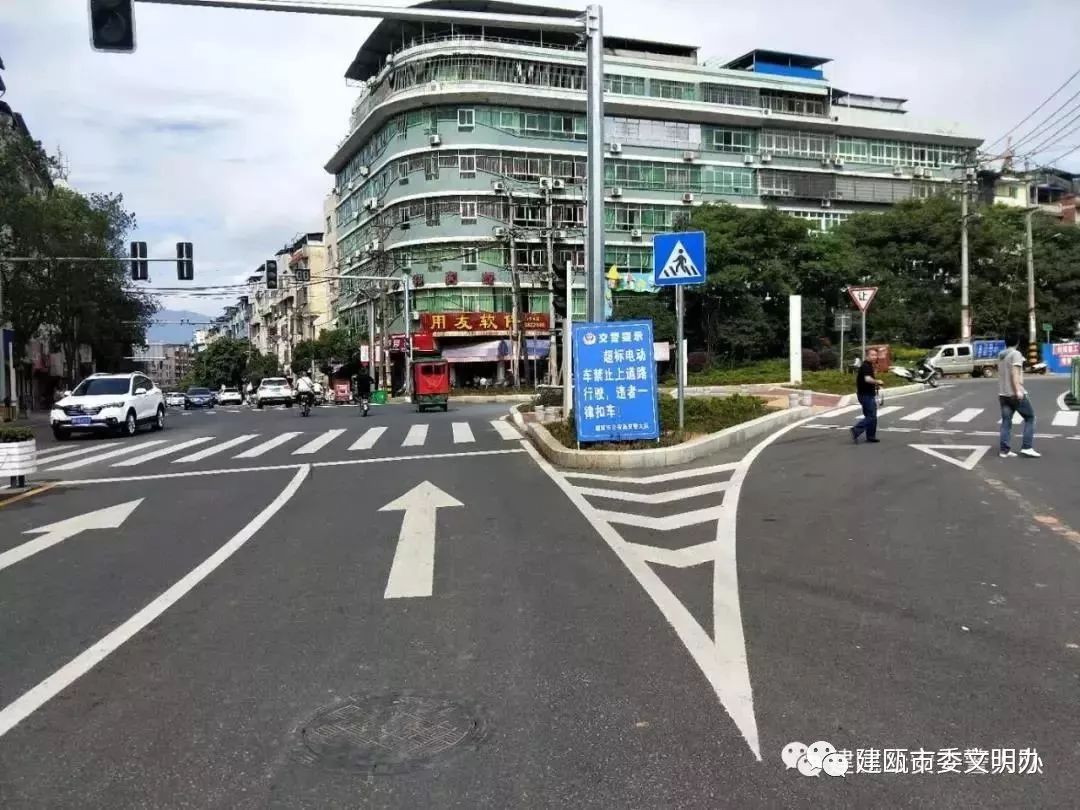
<svg viewBox="0 0 1080 810"><path fill-rule="evenodd" d="M852 418L861 411L861 405L848 405L822 414L802 427L811 430L846 430L850 427ZM968 407L955 413L941 406L914 408L905 405L888 405L878 408L879 418L890 415L893 418L886 420L886 423L878 428L879 431L996 436L1001 423L1000 413L993 407ZM1037 414L1036 417L1037 431L1047 429L1048 422L1051 428L1080 429L1080 410L1055 410L1053 415ZM1013 424L1022 424L1024 419L1020 414L1013 414L1012 421ZM1036 435L1041 438L1069 438L1080 442L1080 430L1075 433L1068 430L1051 433L1039 432Z"/></svg>

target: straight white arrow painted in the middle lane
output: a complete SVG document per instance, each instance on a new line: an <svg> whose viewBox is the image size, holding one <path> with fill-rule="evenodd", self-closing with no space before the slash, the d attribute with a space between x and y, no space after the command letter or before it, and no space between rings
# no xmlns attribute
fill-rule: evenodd
<svg viewBox="0 0 1080 810"><path fill-rule="evenodd" d="M405 513L383 598L431 596L435 581L435 513L444 507L461 505L457 498L424 481L379 510Z"/></svg>

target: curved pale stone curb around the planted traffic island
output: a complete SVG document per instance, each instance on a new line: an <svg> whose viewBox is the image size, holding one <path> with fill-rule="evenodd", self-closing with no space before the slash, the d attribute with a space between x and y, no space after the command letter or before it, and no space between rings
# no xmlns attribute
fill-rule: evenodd
<svg viewBox="0 0 1080 810"><path fill-rule="evenodd" d="M577 450L564 447L539 422L526 422L516 406L511 409L511 415L514 424L528 434L540 455L553 464L571 470L648 470L696 461L813 416L813 409L805 406L787 408L674 447L650 450Z"/></svg>

